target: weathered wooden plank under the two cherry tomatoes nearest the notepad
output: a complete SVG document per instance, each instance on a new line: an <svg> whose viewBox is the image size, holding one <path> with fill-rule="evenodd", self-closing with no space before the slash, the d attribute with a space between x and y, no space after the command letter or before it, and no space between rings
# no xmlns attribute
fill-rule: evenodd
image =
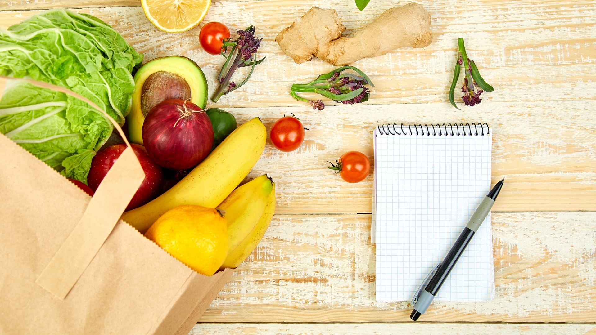
<svg viewBox="0 0 596 335"><path fill-rule="evenodd" d="M229 109L240 122L260 116L270 128L296 114L306 128L302 147L283 153L268 142L249 178L277 182L277 213L371 212L373 174L347 184L326 169L344 152L373 160L373 129L382 122L443 123L482 120L493 132L493 183L506 178L495 211L596 210L596 101L482 103L455 111L449 104ZM399 129L399 127L398 127ZM474 133L475 134L475 133Z"/></svg>

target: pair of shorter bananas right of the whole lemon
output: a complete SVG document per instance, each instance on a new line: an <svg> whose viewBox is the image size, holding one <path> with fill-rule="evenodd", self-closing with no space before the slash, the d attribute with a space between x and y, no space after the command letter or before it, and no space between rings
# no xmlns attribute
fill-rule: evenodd
<svg viewBox="0 0 596 335"><path fill-rule="evenodd" d="M275 211L275 183L267 175L238 187L219 204L228 223L229 251L221 268L236 268L265 235Z"/></svg>

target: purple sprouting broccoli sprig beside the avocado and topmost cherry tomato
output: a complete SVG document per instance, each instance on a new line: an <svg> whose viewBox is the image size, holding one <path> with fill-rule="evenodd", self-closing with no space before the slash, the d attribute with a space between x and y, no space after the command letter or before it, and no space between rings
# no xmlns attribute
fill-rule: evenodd
<svg viewBox="0 0 596 335"><path fill-rule="evenodd" d="M219 72L218 82L219 88L213 95L213 102L216 103L222 95L228 94L239 88L249 81L250 76L253 74L254 67L257 64L262 63L265 57L257 61L257 50L259 49L260 42L263 39L257 39L254 37L256 27L250 26L246 30L238 30L238 39L224 39L224 46L222 47L221 54L226 58L224 66L222 66ZM228 46L232 49L228 55ZM234 58L232 60L232 58ZM240 83L230 82L234 71L238 67L252 66L249 75ZM228 68L229 67L229 68Z"/></svg>

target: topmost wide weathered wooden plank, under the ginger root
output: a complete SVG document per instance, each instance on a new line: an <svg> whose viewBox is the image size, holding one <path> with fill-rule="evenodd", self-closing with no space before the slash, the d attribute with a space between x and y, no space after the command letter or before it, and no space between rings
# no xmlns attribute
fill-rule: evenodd
<svg viewBox="0 0 596 335"><path fill-rule="evenodd" d="M72 1L66 3L72 4ZM596 97L593 64L596 60L596 4L593 1L420 3L432 17L433 43L424 49L402 48L355 63L375 83L367 104L447 102L460 37L465 38L468 55L476 61L483 77L495 87L494 92L482 95L484 101ZM353 1L214 2L203 22L223 21L232 30L257 24L257 36L264 38L259 54L267 57L265 63L257 66L250 82L222 98L219 107L304 106L288 94L291 83L309 82L333 66L320 60L295 64L281 52L274 38L314 5L336 8L349 35L396 2L376 0L362 12ZM213 79L223 64L223 57L209 55L201 49L198 44L200 26L185 33L163 33L147 20L140 7L77 11L91 13L112 24L137 51L145 54L146 60L173 54L192 58L209 79L210 92L215 89ZM7 27L33 13L36 12L0 13L0 26ZM465 114L468 109L454 109L454 114Z"/></svg>

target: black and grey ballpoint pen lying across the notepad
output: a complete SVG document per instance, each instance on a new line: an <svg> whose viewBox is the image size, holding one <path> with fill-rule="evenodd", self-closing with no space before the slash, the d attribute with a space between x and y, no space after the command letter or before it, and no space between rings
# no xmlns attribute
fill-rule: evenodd
<svg viewBox="0 0 596 335"><path fill-rule="evenodd" d="M424 283L426 283L426 279L422 282L420 289L414 294L414 299L412 299L414 310L412 311L412 314L410 314L412 320L417 321L418 318L420 318L420 315L426 312L426 309L429 308L430 303L437 295L437 292L443 283L445 283L445 280L454 268L455 263L457 263L461 254L464 253L465 247L468 246L468 243L470 243L470 240L478 228L480 228L480 225L482 225L482 222L485 220L488 213L491 212L491 207L495 203L496 196L499 195L499 191L501 191L501 188L503 187L504 180L505 178L497 182L484 200L482 200L482 203L480 203L480 206L478 206L476 212L474 212L470 221L468 221L468 224L461 232L460 237L457 238L457 241L455 241L455 244L451 247L451 250L449 250L447 256L445 256L445 259L443 259L443 262L437 265L434 269L436 272L434 272L433 277L426 287L424 287L424 290L421 290L421 288ZM427 278L429 276L427 276Z"/></svg>

